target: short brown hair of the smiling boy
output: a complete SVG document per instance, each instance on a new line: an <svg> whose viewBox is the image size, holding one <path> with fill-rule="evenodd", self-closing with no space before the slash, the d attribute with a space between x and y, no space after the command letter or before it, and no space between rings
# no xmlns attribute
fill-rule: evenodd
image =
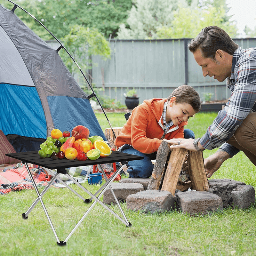
<svg viewBox="0 0 256 256"><path fill-rule="evenodd" d="M201 108L200 96L192 86L180 85L171 93L167 100L170 101L173 96L176 97L175 103L188 103L196 113L199 112Z"/></svg>

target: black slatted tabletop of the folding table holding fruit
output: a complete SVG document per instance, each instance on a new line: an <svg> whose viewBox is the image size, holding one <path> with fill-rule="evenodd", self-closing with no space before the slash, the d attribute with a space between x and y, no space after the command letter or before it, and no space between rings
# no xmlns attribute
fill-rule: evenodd
<svg viewBox="0 0 256 256"><path fill-rule="evenodd" d="M10 153L5 154L16 159L19 159L22 162L27 162L30 164L36 164L48 169L56 169L59 173L65 173L65 168L76 167L76 166L85 166L85 165L94 165L94 164L107 164L107 163L116 163L116 162L127 162L132 160L143 159L143 156L135 156L131 154L121 153L117 151L112 151L110 156L100 157L97 160L90 160L87 158L86 161L68 160L68 159L52 159L50 158L40 158L38 151L29 151L21 153Z"/></svg>

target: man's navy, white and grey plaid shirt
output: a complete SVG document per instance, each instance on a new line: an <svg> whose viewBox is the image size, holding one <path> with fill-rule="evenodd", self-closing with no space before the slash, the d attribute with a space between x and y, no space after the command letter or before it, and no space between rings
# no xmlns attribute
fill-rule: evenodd
<svg viewBox="0 0 256 256"><path fill-rule="evenodd" d="M232 91L225 108L218 113L212 125L200 139L204 148L220 147L233 157L239 152L225 143L231 138L246 116L254 111L256 101L256 48L241 50L233 55L232 72L227 86Z"/></svg>

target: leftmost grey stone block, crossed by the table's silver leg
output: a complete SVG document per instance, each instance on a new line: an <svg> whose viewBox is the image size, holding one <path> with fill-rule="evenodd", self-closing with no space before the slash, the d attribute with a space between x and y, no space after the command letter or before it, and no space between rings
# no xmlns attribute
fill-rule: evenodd
<svg viewBox="0 0 256 256"><path fill-rule="evenodd" d="M131 194L136 194L137 192L144 191L144 187L139 183L111 183L111 187L116 195L116 198L119 202L125 202L127 196ZM111 193L110 188L106 189L103 195L104 204L116 204L115 198Z"/></svg>

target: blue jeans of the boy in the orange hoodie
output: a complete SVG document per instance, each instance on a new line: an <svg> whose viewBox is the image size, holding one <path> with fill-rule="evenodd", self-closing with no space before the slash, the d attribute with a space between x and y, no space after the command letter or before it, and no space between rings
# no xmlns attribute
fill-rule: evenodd
<svg viewBox="0 0 256 256"><path fill-rule="evenodd" d="M184 138L195 139L195 134L189 129L184 129ZM129 178L149 178L152 175L154 165L152 164L151 160L156 159L157 152L144 154L128 144L125 144L120 152L144 157L142 160L134 160L128 162L127 172L129 173Z"/></svg>

